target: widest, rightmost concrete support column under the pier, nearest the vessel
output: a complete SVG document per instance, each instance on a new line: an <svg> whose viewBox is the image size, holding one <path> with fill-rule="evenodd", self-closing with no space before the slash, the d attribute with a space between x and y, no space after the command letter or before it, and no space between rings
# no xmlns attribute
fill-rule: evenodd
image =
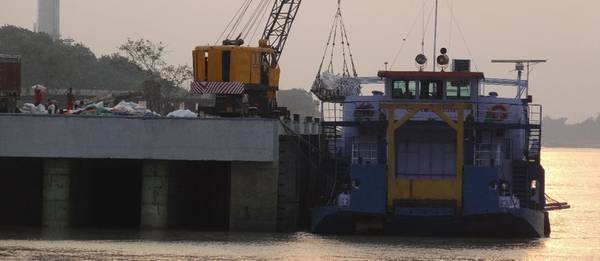
<svg viewBox="0 0 600 261"><path fill-rule="evenodd" d="M231 231L275 231L278 162L231 163Z"/></svg>

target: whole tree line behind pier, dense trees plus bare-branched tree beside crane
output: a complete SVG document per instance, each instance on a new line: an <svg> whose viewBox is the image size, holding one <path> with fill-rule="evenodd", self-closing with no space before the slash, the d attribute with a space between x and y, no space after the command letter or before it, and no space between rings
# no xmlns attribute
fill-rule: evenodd
<svg viewBox="0 0 600 261"><path fill-rule="evenodd" d="M188 66L164 62L165 45L143 39L128 40L115 53L96 57L73 39L53 40L45 33L7 25L0 27L0 53L21 56L25 87L138 90L147 80L181 87L191 78Z"/></svg>

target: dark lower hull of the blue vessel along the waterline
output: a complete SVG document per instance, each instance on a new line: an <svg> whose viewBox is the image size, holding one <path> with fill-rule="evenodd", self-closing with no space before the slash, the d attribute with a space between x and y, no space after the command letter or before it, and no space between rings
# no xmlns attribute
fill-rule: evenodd
<svg viewBox="0 0 600 261"><path fill-rule="evenodd" d="M395 216L339 207L316 208L311 232L394 236L540 238L550 234L548 214L531 209L467 216Z"/></svg>

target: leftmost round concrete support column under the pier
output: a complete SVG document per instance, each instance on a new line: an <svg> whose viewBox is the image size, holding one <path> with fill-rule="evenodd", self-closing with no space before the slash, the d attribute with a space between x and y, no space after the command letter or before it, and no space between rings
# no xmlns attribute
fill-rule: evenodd
<svg viewBox="0 0 600 261"><path fill-rule="evenodd" d="M44 159L43 164L42 225L48 228L68 227L72 163L68 159Z"/></svg>

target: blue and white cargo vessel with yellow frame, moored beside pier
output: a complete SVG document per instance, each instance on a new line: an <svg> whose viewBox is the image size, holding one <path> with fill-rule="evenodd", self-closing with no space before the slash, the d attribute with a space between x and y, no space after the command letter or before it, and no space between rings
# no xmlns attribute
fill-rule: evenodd
<svg viewBox="0 0 600 261"><path fill-rule="evenodd" d="M313 89L323 101L329 191L311 211L312 232L550 235L556 205L546 205L542 105L521 79L536 61L504 61L517 65L517 80L486 78L469 60L450 63L445 50L438 61L437 72L363 78L385 86L372 95ZM487 92L492 85L515 94Z"/></svg>

